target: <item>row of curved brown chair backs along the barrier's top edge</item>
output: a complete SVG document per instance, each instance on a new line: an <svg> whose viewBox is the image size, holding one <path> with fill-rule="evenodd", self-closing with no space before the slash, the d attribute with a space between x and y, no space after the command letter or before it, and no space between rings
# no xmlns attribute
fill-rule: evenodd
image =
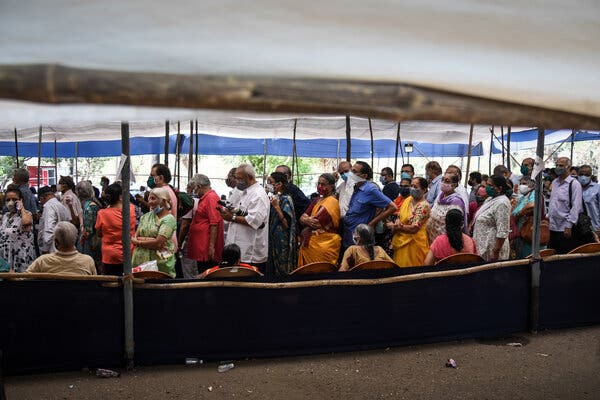
<svg viewBox="0 0 600 400"><path fill-rule="evenodd" d="M600 243L588 243L571 250L568 254L580 254L580 253L596 253L600 252ZM554 249L544 249L540 251L541 257L549 257L556 254ZM528 256L529 258L532 255ZM460 265L460 264L474 264L481 263L485 260L479 254L473 253L457 253L448 256L444 259L439 260L435 265ZM396 263L392 261L367 261L362 264L358 264L350 271L368 271L368 270L382 270L382 269L395 269L400 268ZM336 272L338 267L329 262L314 262L306 264L300 268L295 269L291 272L291 275L315 275ZM167 274L159 271L147 271L138 272L134 276L144 279L165 279L170 278ZM227 267L219 268L216 271L206 275L204 279L208 280L219 280L228 278L247 278L262 276L260 272L244 268L244 267Z"/></svg>

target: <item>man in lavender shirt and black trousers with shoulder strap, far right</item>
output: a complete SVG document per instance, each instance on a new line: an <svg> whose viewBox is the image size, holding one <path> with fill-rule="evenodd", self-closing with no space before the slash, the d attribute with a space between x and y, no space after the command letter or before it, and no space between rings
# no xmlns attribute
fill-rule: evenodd
<svg viewBox="0 0 600 400"><path fill-rule="evenodd" d="M573 225L577 223L582 205L582 189L576 178L569 175L571 160L560 157L556 160L556 175L552 181L548 220L550 222L550 242L548 247L558 254L565 254L577 247L572 236Z"/></svg>

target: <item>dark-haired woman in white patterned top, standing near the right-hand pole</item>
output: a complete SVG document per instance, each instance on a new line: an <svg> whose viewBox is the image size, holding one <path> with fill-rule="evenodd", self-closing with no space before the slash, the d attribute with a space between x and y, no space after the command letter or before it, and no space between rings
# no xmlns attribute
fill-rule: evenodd
<svg viewBox="0 0 600 400"><path fill-rule="evenodd" d="M507 260L510 255L510 200L512 189L502 175L492 175L486 186L488 198L475 214L473 239L486 261Z"/></svg>

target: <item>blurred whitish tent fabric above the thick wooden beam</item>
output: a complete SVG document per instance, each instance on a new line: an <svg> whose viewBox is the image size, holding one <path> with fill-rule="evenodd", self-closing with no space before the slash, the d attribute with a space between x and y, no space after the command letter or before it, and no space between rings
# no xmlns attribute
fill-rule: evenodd
<svg viewBox="0 0 600 400"><path fill-rule="evenodd" d="M600 116L599 16L588 0L5 0L0 51L2 64L406 82Z"/></svg>

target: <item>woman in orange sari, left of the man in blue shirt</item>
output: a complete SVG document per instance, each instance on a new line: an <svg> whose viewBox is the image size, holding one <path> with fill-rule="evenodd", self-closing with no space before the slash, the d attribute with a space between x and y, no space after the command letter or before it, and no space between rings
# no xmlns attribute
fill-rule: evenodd
<svg viewBox="0 0 600 400"><path fill-rule="evenodd" d="M298 267L312 262L326 261L337 265L340 256L342 237L340 226L340 206L333 196L335 177L323 174L319 177L317 197L300 217L304 226L300 234L302 244L298 253Z"/></svg>

